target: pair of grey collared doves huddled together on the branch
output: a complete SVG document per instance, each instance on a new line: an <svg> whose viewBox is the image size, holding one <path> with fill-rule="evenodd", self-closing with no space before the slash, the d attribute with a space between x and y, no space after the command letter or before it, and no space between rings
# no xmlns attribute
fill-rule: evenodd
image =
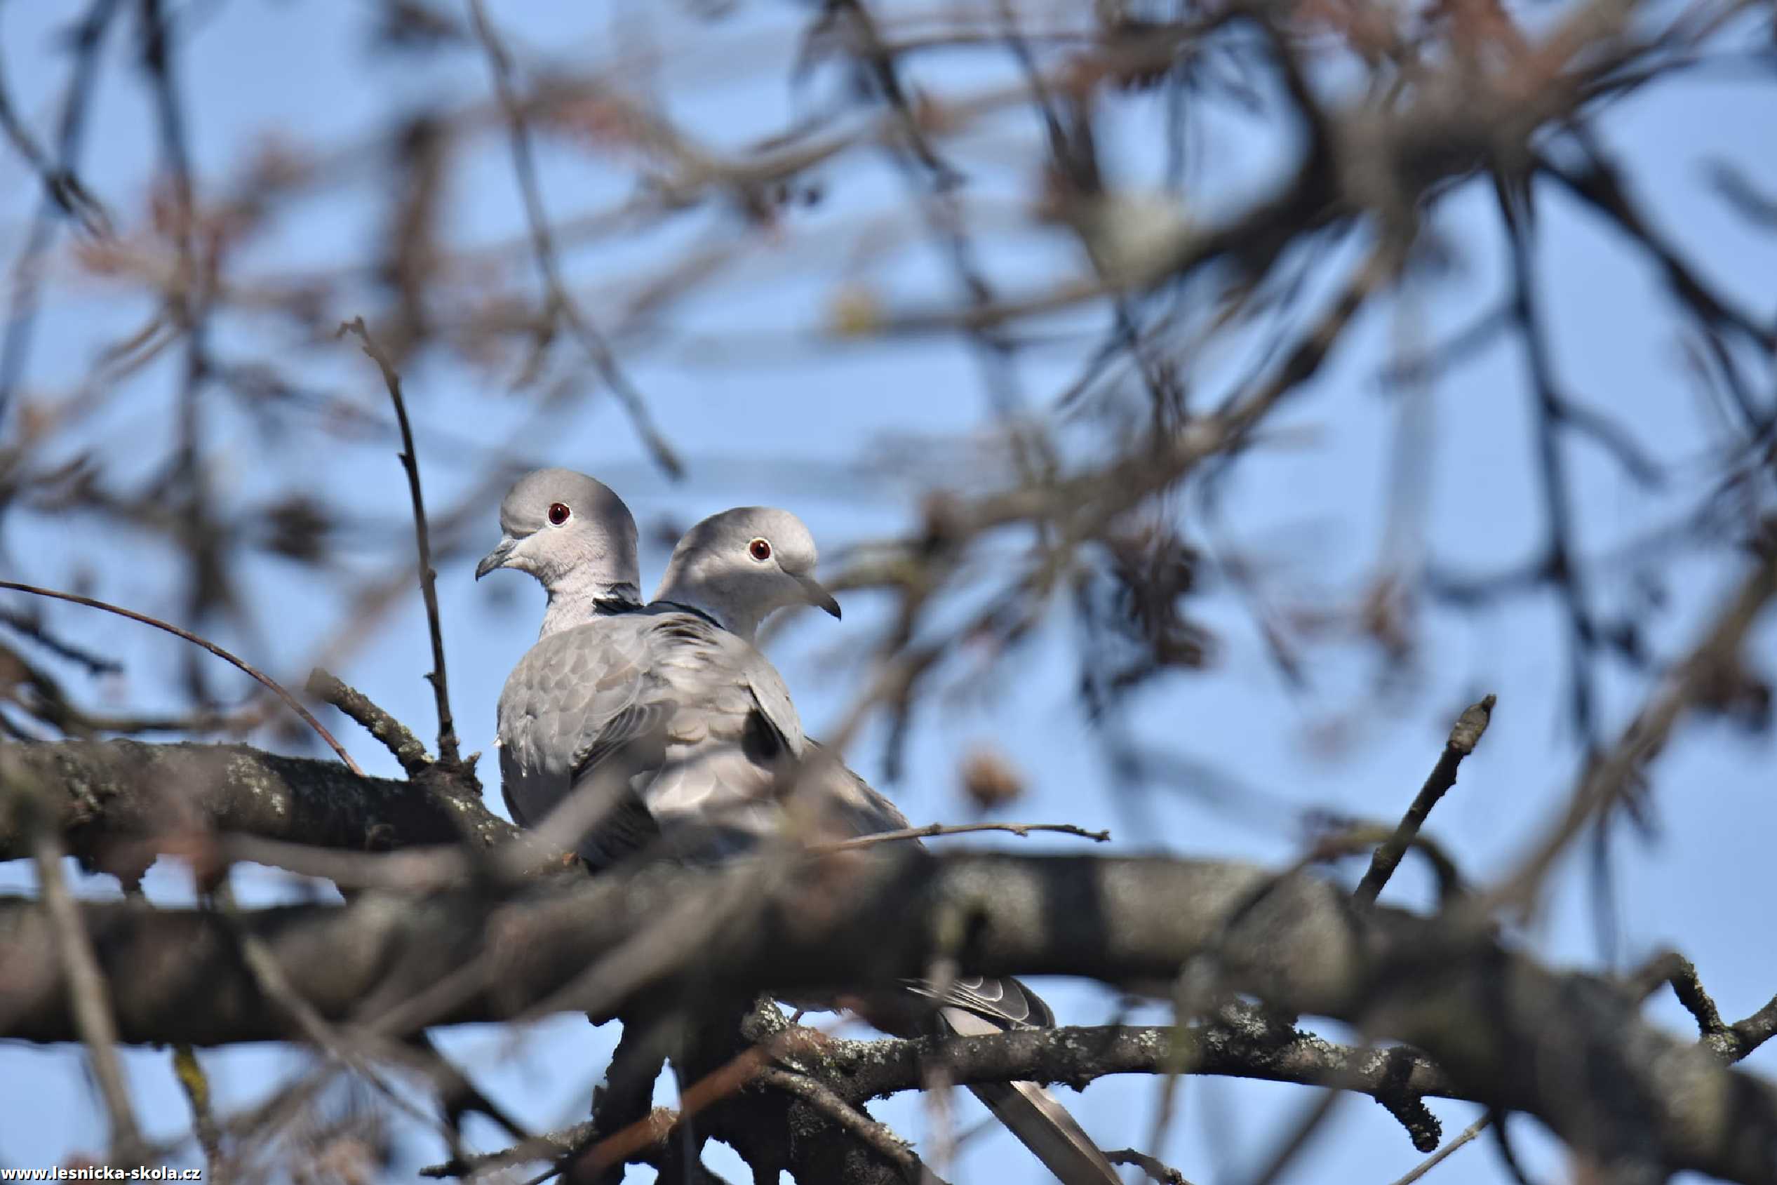
<svg viewBox="0 0 1777 1185"><path fill-rule="evenodd" d="M887 798L801 732L789 689L752 645L777 609L839 616L816 579L796 515L745 506L679 540L659 590L640 599L636 524L602 483L569 469L521 478L499 505L499 545L476 567L535 576L542 634L499 696L506 810L544 826L594 869L641 853L709 860L761 847L794 814L828 835L908 826ZM794 807L784 803L794 787ZM924 1007L910 1002L928 998ZM910 982L867 1018L897 1036L1052 1027L1016 979ZM970 1087L1066 1185L1111 1185L1116 1169L1032 1082Z"/></svg>

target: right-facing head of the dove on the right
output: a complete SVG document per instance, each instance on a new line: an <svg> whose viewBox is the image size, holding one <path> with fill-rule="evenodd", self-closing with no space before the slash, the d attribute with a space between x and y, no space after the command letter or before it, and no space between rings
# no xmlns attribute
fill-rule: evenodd
<svg viewBox="0 0 1777 1185"><path fill-rule="evenodd" d="M679 538L654 599L702 609L752 640L766 616L793 604L839 616L833 593L814 579L816 558L814 537L791 512L736 506Z"/></svg>

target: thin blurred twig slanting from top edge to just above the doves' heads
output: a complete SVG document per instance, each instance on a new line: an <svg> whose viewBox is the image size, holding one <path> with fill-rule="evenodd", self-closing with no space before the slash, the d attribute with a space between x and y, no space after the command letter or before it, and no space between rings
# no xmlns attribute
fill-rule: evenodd
<svg viewBox="0 0 1777 1185"><path fill-rule="evenodd" d="M519 192L524 197L524 219L531 227L531 254L537 258L537 270L542 275L547 293L544 322L549 323L554 316L567 320L569 329L574 330L576 339L599 370L599 377L604 378L604 384L629 412L629 419L634 423L636 432L641 433L641 442L656 464L673 478L684 476L684 464L659 433L659 428L654 426L647 402L631 386L622 366L618 366L617 355L611 354L611 345L562 282L562 272L556 265L554 233L549 229L549 213L544 210L542 188L537 183L537 162L531 158L531 131L524 121L524 103L512 87L512 55L501 44L494 25L487 20L482 0L469 0L469 16L474 23L474 36L487 52L487 64L494 75L494 91L499 96L499 108L506 117L506 139L512 142L512 169L517 174Z"/></svg>

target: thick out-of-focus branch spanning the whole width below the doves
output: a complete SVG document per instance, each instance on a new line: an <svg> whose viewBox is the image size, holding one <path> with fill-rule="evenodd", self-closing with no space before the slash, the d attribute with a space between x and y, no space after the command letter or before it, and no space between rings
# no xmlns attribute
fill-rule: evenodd
<svg viewBox="0 0 1777 1185"><path fill-rule="evenodd" d="M967 972L1157 988L1214 956L1223 990L1414 1045L1464 1094L1541 1117L1601 1164L1654 1155L1669 1169L1777 1180L1777 1091L1642 1022L1622 988L1557 975L1468 927L1359 908L1326 881L1240 863L849 855L606 876L505 901L366 894L345 908L267 910L242 924L318 1014L375 1029L387 1025L379 1014L419 1025L522 1013L638 934L659 942L659 919L698 895L743 906L681 965L636 977L622 1002L759 990L800 998L917 977L938 952ZM84 913L117 984L121 1039L288 1036L213 915L116 904ZM76 1036L52 949L39 906L0 904L5 1036Z"/></svg>

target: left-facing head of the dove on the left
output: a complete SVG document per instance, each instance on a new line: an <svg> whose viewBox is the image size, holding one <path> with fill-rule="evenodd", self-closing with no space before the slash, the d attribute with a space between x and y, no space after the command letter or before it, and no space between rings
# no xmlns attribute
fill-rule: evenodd
<svg viewBox="0 0 1777 1185"><path fill-rule="evenodd" d="M556 597L629 599L640 593L636 521L602 481L572 469L537 469L499 503L499 545L474 565L530 572Z"/></svg>

